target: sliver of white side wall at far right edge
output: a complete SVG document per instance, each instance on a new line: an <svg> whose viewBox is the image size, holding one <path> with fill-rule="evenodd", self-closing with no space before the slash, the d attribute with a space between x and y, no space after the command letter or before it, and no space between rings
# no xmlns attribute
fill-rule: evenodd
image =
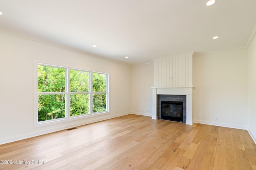
<svg viewBox="0 0 256 170"><path fill-rule="evenodd" d="M256 36L248 48L248 130L256 143Z"/></svg>

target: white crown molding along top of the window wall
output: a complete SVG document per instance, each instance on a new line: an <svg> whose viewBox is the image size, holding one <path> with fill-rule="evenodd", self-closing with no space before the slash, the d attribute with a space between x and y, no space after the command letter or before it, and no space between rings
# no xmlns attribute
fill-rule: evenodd
<svg viewBox="0 0 256 170"><path fill-rule="evenodd" d="M126 65L126 66L131 66L131 64L127 64L127 63L123 63L123 62L116 61L116 60L113 60L113 59L109 59L107 57L103 57L103 56L100 56L100 55L96 55L96 54L93 54L93 53L82 51L82 50L79 50L79 49L76 49L76 48L68 47L66 45L61 45L61 44L58 44L58 43L54 43L54 42L48 41L46 39L41 39L41 38L38 38L38 37L34 37L32 35L24 34L24 33L14 31L14 30L11 30L11 29L6 29L4 27L0 27L0 32L6 33L6 34L9 34L9 35L13 35L13 36L16 36L16 37L20 37L20 38L23 38L23 39L36 41L38 43L42 43L42 44L45 44L45 45L58 47L58 48L65 49L65 50L68 50L68 51L73 51L73 52L80 53L80 54L83 54L83 55L88 55L90 57L95 57L95 58L98 58L98 59L111 61L111 62L114 62L114 63L123 64L123 65Z"/></svg>

